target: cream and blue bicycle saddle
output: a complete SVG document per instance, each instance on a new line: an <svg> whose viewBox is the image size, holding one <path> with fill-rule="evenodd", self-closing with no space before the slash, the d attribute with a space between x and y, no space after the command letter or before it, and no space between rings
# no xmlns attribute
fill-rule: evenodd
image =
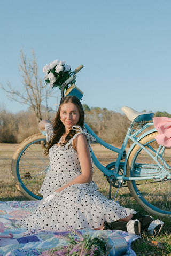
<svg viewBox="0 0 171 256"><path fill-rule="evenodd" d="M150 121L154 117L154 113L138 112L136 110L133 110L133 108L131 107L123 106L121 110L123 111L123 113L126 114L127 118L129 118L130 121L134 122Z"/></svg>

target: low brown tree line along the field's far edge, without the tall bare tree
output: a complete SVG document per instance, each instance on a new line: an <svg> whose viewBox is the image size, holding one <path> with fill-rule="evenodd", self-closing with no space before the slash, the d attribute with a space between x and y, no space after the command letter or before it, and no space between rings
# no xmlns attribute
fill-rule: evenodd
<svg viewBox="0 0 171 256"><path fill-rule="evenodd" d="M104 141L120 146L130 125L126 115L107 110L106 108L93 107L83 104L86 113L85 121L90 128ZM46 108L42 108L42 118L46 119ZM170 117L167 112L156 112L156 117ZM51 112L50 121L55 118L55 112ZM39 133L37 118L34 111L20 111L10 113L0 107L0 143L20 143L25 138Z"/></svg>

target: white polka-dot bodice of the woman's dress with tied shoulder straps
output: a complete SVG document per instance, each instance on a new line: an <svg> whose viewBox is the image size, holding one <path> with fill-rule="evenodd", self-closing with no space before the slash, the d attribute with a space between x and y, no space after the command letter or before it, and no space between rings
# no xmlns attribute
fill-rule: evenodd
<svg viewBox="0 0 171 256"><path fill-rule="evenodd" d="M47 134L49 138L51 138L53 136L53 130L51 125L49 127L51 129L50 134ZM50 170L46 174L40 190L43 197L50 195L54 190L66 185L81 174L80 161L76 150L73 148L73 141L79 134L86 135L88 144L90 143L91 138L89 137L90 135L86 133L86 131L82 130L80 126L73 126L72 129L77 132L66 145L57 146L55 144L49 150ZM49 131L49 129L47 131ZM89 150L91 157L90 145Z"/></svg>

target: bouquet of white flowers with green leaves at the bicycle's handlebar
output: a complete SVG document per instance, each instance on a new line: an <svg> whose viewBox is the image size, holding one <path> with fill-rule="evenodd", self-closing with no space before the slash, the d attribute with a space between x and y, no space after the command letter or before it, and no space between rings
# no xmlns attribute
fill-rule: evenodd
<svg viewBox="0 0 171 256"><path fill-rule="evenodd" d="M65 64L65 61L54 60L43 67L43 72L45 73L44 80L49 83L51 88L59 87L71 76L71 66ZM75 80L72 82L74 83ZM68 86L65 87L68 89Z"/></svg>

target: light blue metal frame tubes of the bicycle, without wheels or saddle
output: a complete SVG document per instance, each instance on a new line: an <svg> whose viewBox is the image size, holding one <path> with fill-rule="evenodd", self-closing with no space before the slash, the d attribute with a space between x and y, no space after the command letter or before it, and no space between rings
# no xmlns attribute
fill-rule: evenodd
<svg viewBox="0 0 171 256"><path fill-rule="evenodd" d="M133 125L134 125L134 122L131 123L130 127L128 128L128 131L127 131L127 134L125 136L125 139L123 141L123 144L121 146L121 148L116 148L115 146L112 146L106 142L104 142L102 139L100 139L95 133L94 131L91 130L91 128L86 124L84 123L84 126L86 128L86 130L88 131L88 133L90 133L92 136L95 137L96 141L104 146L105 148L109 149L109 150L112 150L116 153L118 153L118 158L116 159L116 162L111 162L111 164L109 165L115 165L115 168L114 170L109 170L107 169L106 167L104 167L102 164L100 164L100 162L98 161L98 159L96 158L94 152L92 151L92 160L94 162L94 164L96 165L96 167L101 170L104 175L106 176L111 176L111 175L114 175L116 180L120 180L120 181L123 181L123 180L147 180L147 179L164 179L166 176L167 177L170 177L170 173L164 168L164 166L162 166L160 164L160 162L158 161L158 158L161 159L161 153L165 147L163 146L159 146L159 149L158 151L156 152L155 156L153 156L153 154L145 148L144 145L142 145L141 143L139 143L139 141L146 135L149 135L151 133L153 133L154 131L156 131L156 129L151 129L149 131L147 131L146 133L143 133L141 136L137 137L139 134L142 133L142 131L144 131L147 127L150 127L153 125L153 123L146 123L145 125L143 125L141 128L139 128L137 131L134 131L133 130ZM126 149L126 145L128 143L128 140L131 140L133 141L133 145L131 145L128 153L127 153L127 156L126 156L126 159L125 159L125 162L121 162L121 158L125 152L125 149ZM142 177L126 177L126 166L127 166L127 160L128 160L128 157L129 157L129 154L131 152L131 150L134 148L135 145L138 145L141 149L144 149L145 152L147 152L149 154L149 156L156 162L156 164L161 168L160 170L160 174L159 175L153 175L153 176L142 176ZM165 162L165 165L167 165L167 163ZM108 166L108 165L107 165ZM119 166L123 166L124 168L124 175L119 175L118 174L118 170L119 170ZM167 167L169 167L167 165ZM155 168L155 166L154 166Z"/></svg>

